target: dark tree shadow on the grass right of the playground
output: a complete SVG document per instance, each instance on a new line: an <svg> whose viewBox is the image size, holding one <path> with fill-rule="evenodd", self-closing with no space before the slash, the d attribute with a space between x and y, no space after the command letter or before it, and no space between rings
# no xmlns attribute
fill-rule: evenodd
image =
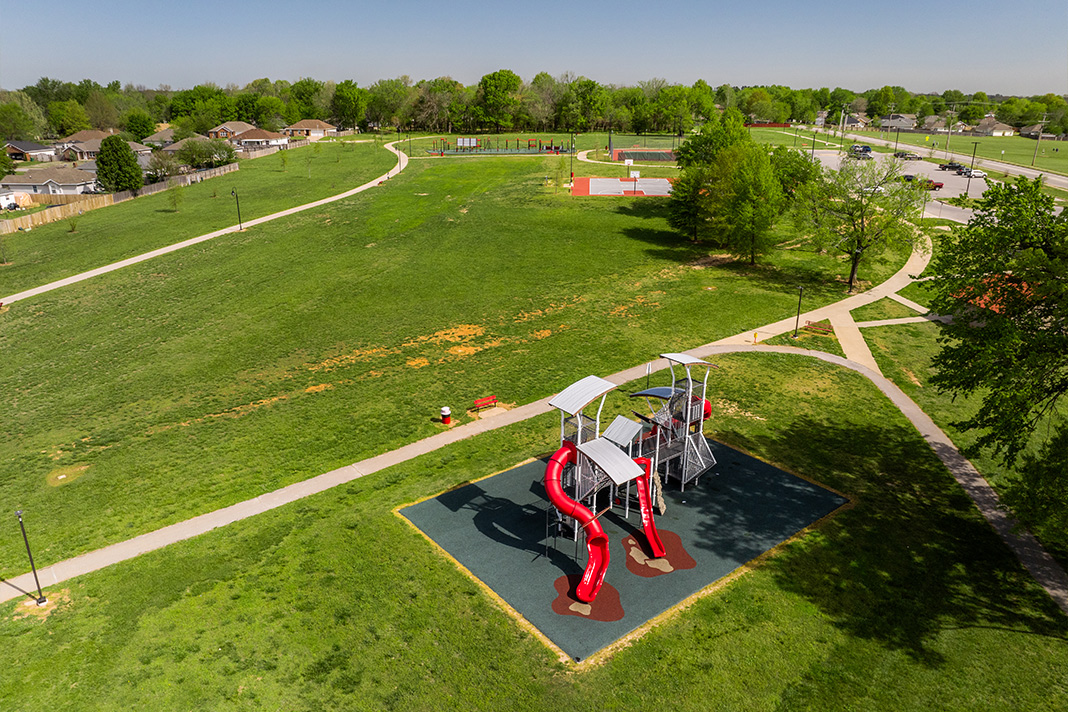
<svg viewBox="0 0 1068 712"><path fill-rule="evenodd" d="M938 667L933 644L944 630L1068 633L1052 599L911 429L804 417L769 436L723 434L855 497L769 563L784 590L851 636Z"/></svg>

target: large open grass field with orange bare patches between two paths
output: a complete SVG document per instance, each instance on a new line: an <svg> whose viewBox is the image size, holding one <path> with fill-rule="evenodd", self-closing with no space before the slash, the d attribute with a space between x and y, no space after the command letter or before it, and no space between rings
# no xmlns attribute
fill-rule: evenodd
<svg viewBox="0 0 1068 712"><path fill-rule="evenodd" d="M433 434L445 405L529 402L774 321L798 285L808 307L845 294L841 259L709 255L662 201L553 194L547 160L412 161L388 189L13 304L0 499L49 522L38 563ZM20 547L0 540L0 575Z"/></svg>

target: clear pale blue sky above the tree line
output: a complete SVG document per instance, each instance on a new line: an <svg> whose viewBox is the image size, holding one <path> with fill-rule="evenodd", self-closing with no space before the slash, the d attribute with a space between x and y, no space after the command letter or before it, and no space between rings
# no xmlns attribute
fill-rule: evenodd
<svg viewBox="0 0 1068 712"><path fill-rule="evenodd" d="M304 10L296 10L302 7ZM1068 93L1068 2L0 0L0 86L301 77Z"/></svg>

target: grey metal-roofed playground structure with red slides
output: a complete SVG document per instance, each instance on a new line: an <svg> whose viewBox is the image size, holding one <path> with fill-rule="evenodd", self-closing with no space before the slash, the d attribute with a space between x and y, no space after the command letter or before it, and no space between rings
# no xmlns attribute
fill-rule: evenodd
<svg viewBox="0 0 1068 712"><path fill-rule="evenodd" d="M704 423L711 415L711 405L705 398L711 364L682 353L661 357L671 367L671 386L646 389L632 396L663 401L659 408L650 405L649 417L635 412L645 426L619 415L601 433L604 398L616 386L597 376L572 383L549 401L560 411L560 448L545 471L546 494L552 504L546 512L546 536L550 528L555 533L569 531L578 541L579 529L584 532L586 566L575 590L583 603L597 598L611 560L608 537L598 519L621 503L624 517L630 516L631 481L637 488L648 551L653 558L660 558L665 550L653 510L658 469L662 465L664 476L676 476L685 488L716 464L704 439ZM675 366L686 370L685 378L676 378ZM694 366L705 367L700 394L691 370ZM597 412L591 417L583 411L595 402ZM621 492L624 487L625 492ZM598 511L602 492L608 494L607 506Z"/></svg>

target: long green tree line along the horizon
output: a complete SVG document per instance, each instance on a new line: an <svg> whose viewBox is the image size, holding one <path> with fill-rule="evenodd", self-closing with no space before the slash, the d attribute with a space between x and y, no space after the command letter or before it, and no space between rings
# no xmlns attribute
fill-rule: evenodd
<svg viewBox="0 0 1068 712"><path fill-rule="evenodd" d="M601 84L565 73L543 72L530 81L509 69L465 85L451 77L413 82L410 77L380 79L370 86L302 78L296 82L256 79L245 86L213 83L174 91L112 81L101 85L42 77L17 91L0 91L0 136L5 140L47 140L87 128L121 128L140 140L168 122L179 136L204 133L227 121L279 130L304 118L343 128L412 129L442 132L500 130L684 133L712 115L735 109L753 122L812 123L827 111L835 124L842 111L877 117L890 113L954 116L976 123L987 113L1022 127L1046 122L1046 130L1068 132L1068 102L1056 94L1001 96L913 93L901 86L865 92L848 89L790 89L782 85L712 88L664 79L633 86Z"/></svg>

